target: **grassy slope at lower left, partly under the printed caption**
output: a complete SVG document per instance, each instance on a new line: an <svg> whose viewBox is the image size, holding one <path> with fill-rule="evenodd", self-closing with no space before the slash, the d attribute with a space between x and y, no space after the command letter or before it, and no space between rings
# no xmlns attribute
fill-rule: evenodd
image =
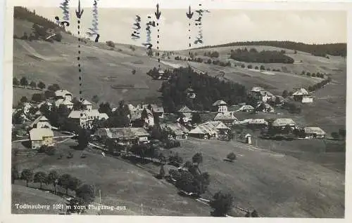
<svg viewBox="0 0 352 223"><path fill-rule="evenodd" d="M68 151L73 152L74 157L70 159L64 156L58 160L58 155L18 156L13 158L13 164L17 164L19 170L31 168L34 173L39 170L45 172L56 170L59 174L69 173L84 183L94 185L96 191L101 189L101 203L127 206L127 212L105 210L106 212L103 212L105 215L208 216L210 214L210 209L206 205L178 195L177 189L171 184L157 180L151 173L132 163L103 157L95 152L87 152L87 158L80 158L82 151L70 149L70 146L75 144L71 141L58 144L58 150L64 155L68 154ZM95 202L99 203L98 193L96 196ZM14 201L19 202L20 199L16 198Z"/></svg>

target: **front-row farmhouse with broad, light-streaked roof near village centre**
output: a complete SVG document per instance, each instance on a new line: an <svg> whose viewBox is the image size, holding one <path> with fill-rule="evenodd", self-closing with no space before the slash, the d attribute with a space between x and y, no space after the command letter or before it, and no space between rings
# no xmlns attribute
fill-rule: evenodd
<svg viewBox="0 0 352 223"><path fill-rule="evenodd" d="M225 126L221 121L208 121L206 123L196 126L196 128L189 131L190 137L196 137L204 140L217 140L220 135L228 135L230 128Z"/></svg>

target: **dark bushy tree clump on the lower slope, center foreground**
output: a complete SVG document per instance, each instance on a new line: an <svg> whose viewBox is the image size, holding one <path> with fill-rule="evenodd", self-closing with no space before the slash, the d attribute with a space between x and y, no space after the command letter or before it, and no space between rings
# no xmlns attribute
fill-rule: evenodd
<svg viewBox="0 0 352 223"><path fill-rule="evenodd" d="M175 161L177 162L177 160ZM180 161L178 161L180 162ZM184 163L184 169L170 170L169 177L175 181L175 186L183 191L204 194L210 184L210 175L207 172L201 172L199 165L203 162L203 156L200 153L194 154L192 161ZM161 167L160 177L164 177L165 170Z"/></svg>

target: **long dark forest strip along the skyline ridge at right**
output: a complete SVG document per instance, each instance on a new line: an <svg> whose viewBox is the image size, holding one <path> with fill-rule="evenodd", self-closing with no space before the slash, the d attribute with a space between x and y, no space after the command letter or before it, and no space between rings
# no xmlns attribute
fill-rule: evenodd
<svg viewBox="0 0 352 223"><path fill-rule="evenodd" d="M245 42L234 42L226 43L216 46L202 46L201 48L217 48L225 46L276 46L279 48L287 48L290 50L298 50L313 55L336 55L346 57L347 55L347 44L346 43L326 43L326 44L306 44L297 43L294 41L245 41Z"/></svg>

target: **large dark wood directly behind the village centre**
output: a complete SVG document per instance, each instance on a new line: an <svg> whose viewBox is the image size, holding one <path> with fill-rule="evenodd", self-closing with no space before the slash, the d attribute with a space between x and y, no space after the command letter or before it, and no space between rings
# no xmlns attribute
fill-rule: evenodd
<svg viewBox="0 0 352 223"><path fill-rule="evenodd" d="M192 87L195 98L187 97L187 89ZM229 104L246 102L246 89L239 83L220 81L216 77L198 75L191 67L180 67L172 71L169 81L161 86L163 107L175 112L177 107L186 105L194 110L210 110L212 104L220 98Z"/></svg>

